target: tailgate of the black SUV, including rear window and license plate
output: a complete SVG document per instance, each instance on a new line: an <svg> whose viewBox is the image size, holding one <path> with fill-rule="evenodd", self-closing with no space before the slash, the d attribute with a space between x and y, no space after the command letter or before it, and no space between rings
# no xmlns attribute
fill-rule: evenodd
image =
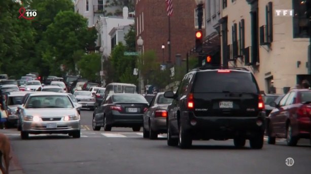
<svg viewBox="0 0 311 174"><path fill-rule="evenodd" d="M195 116L258 116L260 91L255 78L249 72L197 72L191 91Z"/></svg>

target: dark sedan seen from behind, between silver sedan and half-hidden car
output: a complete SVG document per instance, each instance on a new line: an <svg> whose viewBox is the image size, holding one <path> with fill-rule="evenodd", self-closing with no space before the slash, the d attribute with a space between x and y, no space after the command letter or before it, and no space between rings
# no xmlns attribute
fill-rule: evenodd
<svg viewBox="0 0 311 174"><path fill-rule="evenodd" d="M140 131L148 101L141 94L112 94L105 97L94 110L93 130L111 131L112 127L132 127Z"/></svg>

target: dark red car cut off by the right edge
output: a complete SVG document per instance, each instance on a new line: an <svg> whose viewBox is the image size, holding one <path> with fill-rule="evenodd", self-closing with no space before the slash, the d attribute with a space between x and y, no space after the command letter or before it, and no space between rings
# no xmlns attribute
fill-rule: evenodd
<svg viewBox="0 0 311 174"><path fill-rule="evenodd" d="M300 138L311 138L311 90L293 89L271 107L275 109L267 120L268 144L275 144L278 137L296 146Z"/></svg>

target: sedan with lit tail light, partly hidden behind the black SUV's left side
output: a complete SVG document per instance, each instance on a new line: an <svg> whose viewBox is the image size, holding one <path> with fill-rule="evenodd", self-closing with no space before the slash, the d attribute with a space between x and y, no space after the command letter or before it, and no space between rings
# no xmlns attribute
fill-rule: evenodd
<svg viewBox="0 0 311 174"><path fill-rule="evenodd" d="M171 98L164 97L164 92L157 93L152 99L149 109L144 114L144 138L154 140L158 138L158 134L166 133L167 106L171 101Z"/></svg>

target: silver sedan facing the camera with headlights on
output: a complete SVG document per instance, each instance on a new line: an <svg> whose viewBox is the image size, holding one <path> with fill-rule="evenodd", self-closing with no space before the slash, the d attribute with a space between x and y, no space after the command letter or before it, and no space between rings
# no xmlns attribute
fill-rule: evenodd
<svg viewBox="0 0 311 174"><path fill-rule="evenodd" d="M80 114L66 93L35 92L25 105L18 107L21 116L21 138L29 134L62 133L80 137Z"/></svg>

